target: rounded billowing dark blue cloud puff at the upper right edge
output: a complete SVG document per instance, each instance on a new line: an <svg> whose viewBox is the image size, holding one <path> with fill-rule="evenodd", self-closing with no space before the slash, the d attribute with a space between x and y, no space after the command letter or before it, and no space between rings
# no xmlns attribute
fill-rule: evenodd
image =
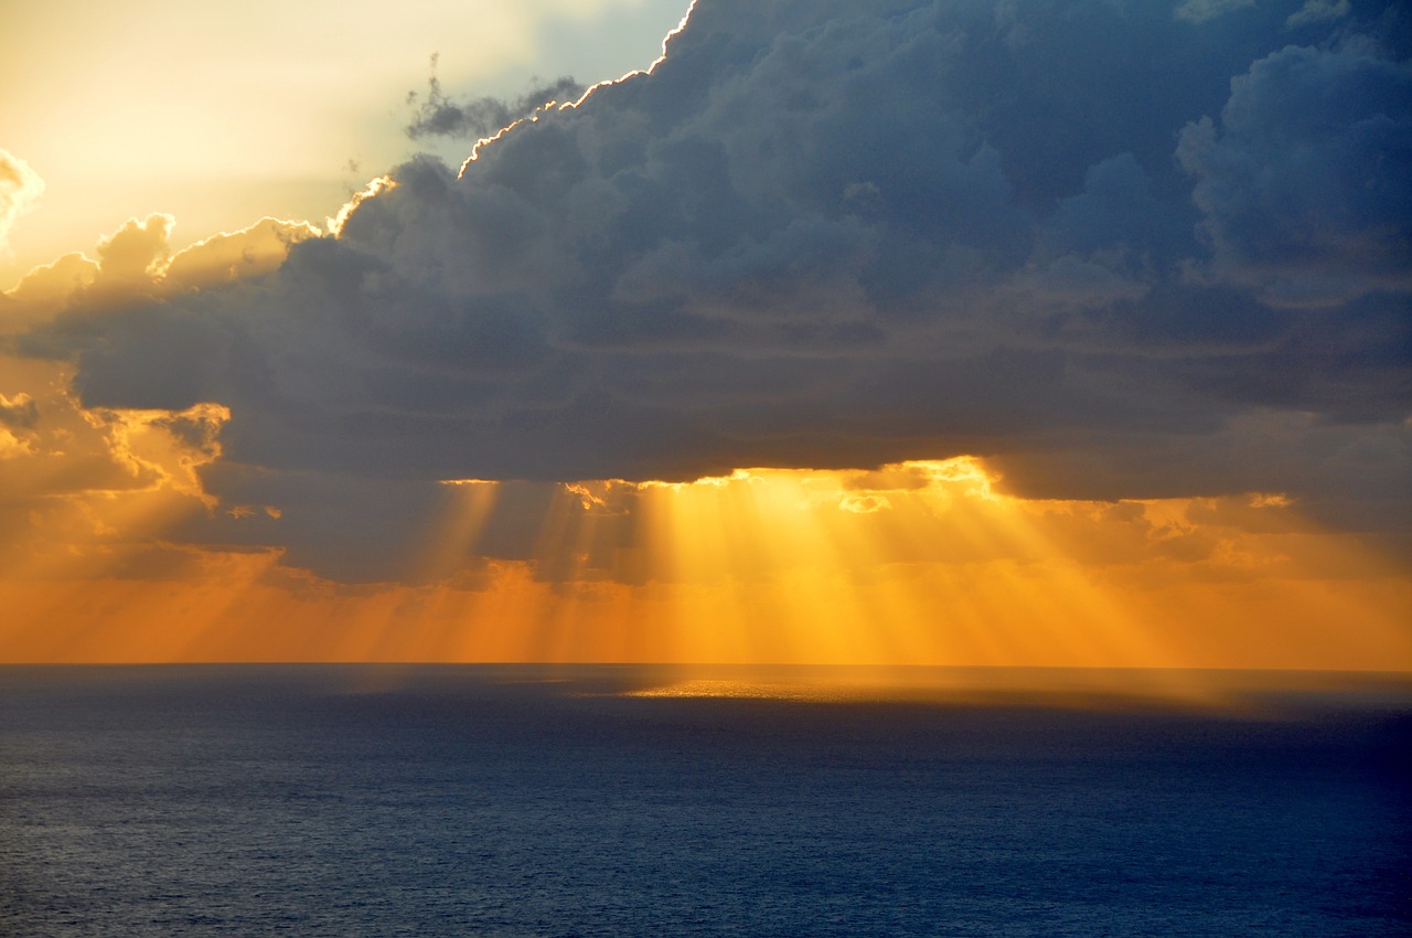
<svg viewBox="0 0 1412 938"><path fill-rule="evenodd" d="M1220 129L1183 129L1178 160L1219 275L1274 305L1412 290L1412 64L1285 47L1231 79Z"/></svg>

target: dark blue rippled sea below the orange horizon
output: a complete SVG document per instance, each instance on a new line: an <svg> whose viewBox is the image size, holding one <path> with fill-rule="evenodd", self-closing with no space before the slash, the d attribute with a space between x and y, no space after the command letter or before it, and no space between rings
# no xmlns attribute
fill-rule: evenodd
<svg viewBox="0 0 1412 938"><path fill-rule="evenodd" d="M0 668L0 935L1412 934L1405 699L633 681Z"/></svg>

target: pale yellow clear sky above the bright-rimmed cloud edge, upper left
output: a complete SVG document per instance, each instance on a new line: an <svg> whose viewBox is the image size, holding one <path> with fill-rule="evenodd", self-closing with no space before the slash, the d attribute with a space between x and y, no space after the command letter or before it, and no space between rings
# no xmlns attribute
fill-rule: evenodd
<svg viewBox="0 0 1412 938"><path fill-rule="evenodd" d="M0 290L128 218L176 249L263 216L321 223L422 148L408 92L513 97L647 68L686 0L10 0L0 148L44 179L0 251Z"/></svg>

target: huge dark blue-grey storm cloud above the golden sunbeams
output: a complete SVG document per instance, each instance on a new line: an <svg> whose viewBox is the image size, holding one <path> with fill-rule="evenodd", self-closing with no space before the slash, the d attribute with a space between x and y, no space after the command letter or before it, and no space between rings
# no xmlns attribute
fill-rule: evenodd
<svg viewBox="0 0 1412 938"><path fill-rule="evenodd" d="M1395 518L1404 18L700 0L652 73L459 177L398 167L275 274L20 345L72 356L92 405L229 405L226 463L268 477L425 494L970 452L1032 493L1288 485ZM438 92L417 133L443 107L474 110ZM1340 455L1364 438L1392 462Z"/></svg>

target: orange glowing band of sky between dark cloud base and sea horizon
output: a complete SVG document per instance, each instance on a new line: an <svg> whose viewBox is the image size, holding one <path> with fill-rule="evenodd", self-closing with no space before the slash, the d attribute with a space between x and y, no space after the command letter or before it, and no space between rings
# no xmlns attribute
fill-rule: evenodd
<svg viewBox="0 0 1412 938"><path fill-rule="evenodd" d="M555 486L532 557L494 558L501 483L463 482L426 527L426 579L347 585L164 544L210 510L191 455L151 415L112 421L151 479L27 535L0 582L7 661L1412 667L1395 568L1268 494L1024 500L971 458L599 480Z"/></svg>

